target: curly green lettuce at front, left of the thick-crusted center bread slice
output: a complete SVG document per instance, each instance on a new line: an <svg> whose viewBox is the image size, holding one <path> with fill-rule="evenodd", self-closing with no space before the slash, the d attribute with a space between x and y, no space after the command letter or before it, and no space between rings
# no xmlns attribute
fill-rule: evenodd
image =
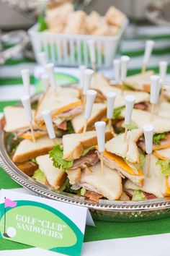
<svg viewBox="0 0 170 256"><path fill-rule="evenodd" d="M53 161L53 166L61 168L63 171L73 166L73 160L63 160L63 147L61 145L55 145L53 150L50 150L49 155Z"/></svg>

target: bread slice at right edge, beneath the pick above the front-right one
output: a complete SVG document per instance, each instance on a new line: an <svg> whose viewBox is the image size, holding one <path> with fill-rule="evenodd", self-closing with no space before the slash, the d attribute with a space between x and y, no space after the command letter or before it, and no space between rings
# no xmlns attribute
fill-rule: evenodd
<svg viewBox="0 0 170 256"><path fill-rule="evenodd" d="M122 111L121 116L125 117L125 110ZM154 133L170 131L170 118L168 119L154 115L153 121L151 121L150 119L150 113L139 109L133 109L131 120L138 126L138 128L143 128L145 124L152 124L154 127Z"/></svg>

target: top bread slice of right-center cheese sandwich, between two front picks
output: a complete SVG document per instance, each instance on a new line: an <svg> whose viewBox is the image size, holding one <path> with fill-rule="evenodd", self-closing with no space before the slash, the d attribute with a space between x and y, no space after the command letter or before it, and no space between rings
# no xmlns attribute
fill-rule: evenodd
<svg viewBox="0 0 170 256"><path fill-rule="evenodd" d="M143 131L142 129L129 131L127 140L124 140L124 135L123 133L109 140L105 145L105 149L110 153L126 158L131 163L137 163L139 161L139 153L136 142L143 135Z"/></svg>

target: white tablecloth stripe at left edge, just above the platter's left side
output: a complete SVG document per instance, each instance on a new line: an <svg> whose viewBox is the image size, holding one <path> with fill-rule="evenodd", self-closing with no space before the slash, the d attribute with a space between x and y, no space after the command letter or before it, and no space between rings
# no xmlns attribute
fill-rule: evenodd
<svg viewBox="0 0 170 256"><path fill-rule="evenodd" d="M31 95L35 93L35 87L30 87ZM2 85L0 86L0 101L18 101L24 94L22 85Z"/></svg>

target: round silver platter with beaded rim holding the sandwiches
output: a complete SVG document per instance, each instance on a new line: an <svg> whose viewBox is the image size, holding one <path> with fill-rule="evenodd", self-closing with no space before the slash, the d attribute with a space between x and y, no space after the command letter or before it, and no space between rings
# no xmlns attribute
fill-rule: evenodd
<svg viewBox="0 0 170 256"><path fill-rule="evenodd" d="M36 96L37 98L37 96ZM32 98L32 101L35 97ZM26 174L14 165L7 153L6 132L0 130L0 165L15 182L34 192L40 197L47 197L72 205L81 205L89 208L95 220L102 221L148 221L170 216L170 197L143 201L109 201L99 200L98 203L89 202L84 197L78 197L65 192L50 189Z"/></svg>

